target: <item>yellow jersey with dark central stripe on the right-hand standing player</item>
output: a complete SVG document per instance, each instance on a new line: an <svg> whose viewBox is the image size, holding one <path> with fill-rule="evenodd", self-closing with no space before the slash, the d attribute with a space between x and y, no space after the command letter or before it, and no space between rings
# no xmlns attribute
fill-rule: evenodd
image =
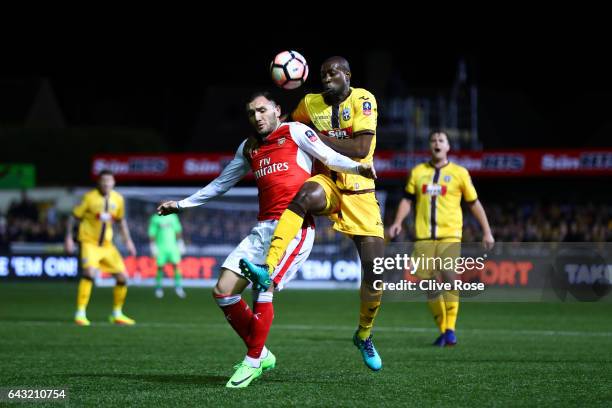
<svg viewBox="0 0 612 408"><path fill-rule="evenodd" d="M431 163L415 166L406 184L406 196L416 201L416 238L461 238L461 197L476 201L478 195L465 167L448 163L437 169Z"/></svg>

